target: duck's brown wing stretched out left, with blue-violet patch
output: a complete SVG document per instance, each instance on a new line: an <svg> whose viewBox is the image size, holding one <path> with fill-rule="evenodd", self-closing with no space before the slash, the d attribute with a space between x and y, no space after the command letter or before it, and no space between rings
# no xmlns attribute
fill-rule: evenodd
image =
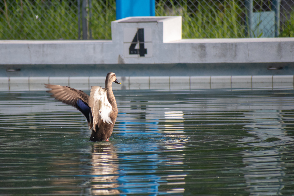
<svg viewBox="0 0 294 196"><path fill-rule="evenodd" d="M68 86L45 84L45 87L52 89L46 91L52 93L51 97L78 109L87 118L88 126L91 128L91 108L88 105L90 97L86 93Z"/></svg>

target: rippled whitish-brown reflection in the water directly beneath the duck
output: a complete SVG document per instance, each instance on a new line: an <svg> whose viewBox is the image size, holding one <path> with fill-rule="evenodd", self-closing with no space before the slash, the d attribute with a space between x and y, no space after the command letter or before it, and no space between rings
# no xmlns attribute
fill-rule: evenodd
<svg viewBox="0 0 294 196"><path fill-rule="evenodd" d="M118 155L112 143L94 143L92 150L91 192L93 195L119 194Z"/></svg>

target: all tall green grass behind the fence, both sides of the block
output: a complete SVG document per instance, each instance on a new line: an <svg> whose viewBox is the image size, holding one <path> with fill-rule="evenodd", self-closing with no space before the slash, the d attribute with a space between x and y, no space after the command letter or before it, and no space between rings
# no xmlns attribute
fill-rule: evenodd
<svg viewBox="0 0 294 196"><path fill-rule="evenodd" d="M181 15L183 38L247 36L245 7L240 5L240 1L223 1L223 3L200 1L193 10L190 9L190 5L187 6L189 4L187 0L179 3L170 1L168 6L164 0L156 3L156 16ZM92 0L91 18L88 14L87 25L91 29L93 39L111 39L111 21L116 19L115 7L115 0ZM0 1L0 39L76 40L78 39L77 14L77 1L2 0ZM281 29L281 37L294 36L294 11L290 19L285 24L281 24Z"/></svg>

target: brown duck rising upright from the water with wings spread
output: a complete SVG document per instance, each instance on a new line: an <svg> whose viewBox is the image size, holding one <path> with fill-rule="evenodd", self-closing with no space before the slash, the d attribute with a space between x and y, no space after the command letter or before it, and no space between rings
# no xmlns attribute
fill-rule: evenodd
<svg viewBox="0 0 294 196"><path fill-rule="evenodd" d="M87 119L92 130L89 141L109 141L117 118L118 108L112 91L112 82L118 82L115 73L109 72L105 79L105 88L91 86L90 96L81 90L69 86L45 84L51 97L78 109Z"/></svg>

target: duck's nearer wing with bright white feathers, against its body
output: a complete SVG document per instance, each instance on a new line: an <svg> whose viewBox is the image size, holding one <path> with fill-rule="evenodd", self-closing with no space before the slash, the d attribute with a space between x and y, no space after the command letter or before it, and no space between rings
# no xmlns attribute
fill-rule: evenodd
<svg viewBox="0 0 294 196"><path fill-rule="evenodd" d="M100 127L102 121L104 123L112 123L109 117L112 106L108 102L106 89L101 86L92 86L90 93L89 106L91 107L93 116L93 129L96 131L96 126Z"/></svg>

